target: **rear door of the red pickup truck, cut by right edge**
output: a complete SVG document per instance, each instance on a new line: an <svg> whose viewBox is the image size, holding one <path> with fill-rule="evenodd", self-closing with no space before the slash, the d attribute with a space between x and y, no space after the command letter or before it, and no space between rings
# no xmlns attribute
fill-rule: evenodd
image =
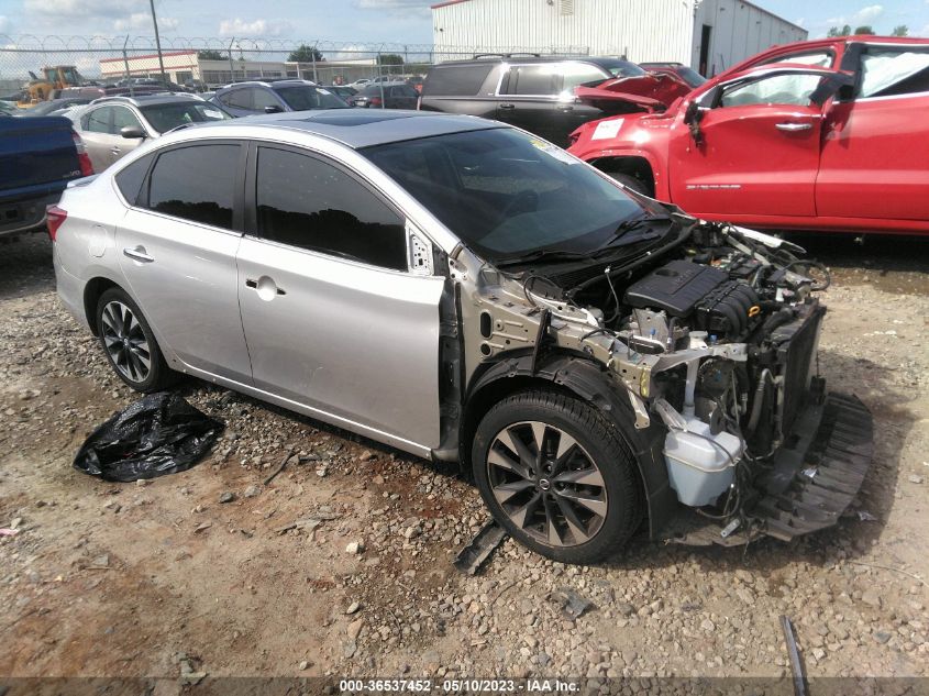
<svg viewBox="0 0 929 696"><path fill-rule="evenodd" d="M820 216L929 220L929 46L852 44L853 96L826 121Z"/></svg>

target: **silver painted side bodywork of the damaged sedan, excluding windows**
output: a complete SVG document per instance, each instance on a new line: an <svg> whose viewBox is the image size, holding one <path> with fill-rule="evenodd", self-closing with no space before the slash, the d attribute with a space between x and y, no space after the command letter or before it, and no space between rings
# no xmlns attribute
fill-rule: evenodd
<svg viewBox="0 0 929 696"><path fill-rule="evenodd" d="M87 323L87 284L107 278L139 303L173 368L428 456L440 440L442 275L375 268L132 208L113 181L145 153L176 143L283 143L336 159L389 199L432 244L446 253L460 248L454 234L362 154L332 137L283 125L236 123L168 133L90 184L69 188L60 202L68 218L54 253L58 292ZM99 227L112 230L102 244ZM136 247L155 261L140 263L123 254ZM273 272L288 295L266 301L247 288L245 274L261 268ZM254 346L246 344L243 318ZM286 321L298 330L287 331ZM270 352L255 361L257 382L248 347Z"/></svg>

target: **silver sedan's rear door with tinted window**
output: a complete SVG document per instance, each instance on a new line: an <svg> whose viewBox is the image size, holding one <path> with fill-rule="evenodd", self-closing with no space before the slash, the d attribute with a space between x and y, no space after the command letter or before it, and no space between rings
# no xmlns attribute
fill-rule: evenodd
<svg viewBox="0 0 929 696"><path fill-rule="evenodd" d="M208 141L157 153L117 248L131 295L181 361L173 366L251 385L235 267L244 150Z"/></svg>

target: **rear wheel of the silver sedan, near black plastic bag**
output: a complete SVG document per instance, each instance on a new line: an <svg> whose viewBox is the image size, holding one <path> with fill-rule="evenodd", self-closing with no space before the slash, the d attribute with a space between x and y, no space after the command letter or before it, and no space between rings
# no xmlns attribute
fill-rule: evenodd
<svg viewBox="0 0 929 696"><path fill-rule="evenodd" d="M159 391L175 373L162 355L139 306L120 288L110 288L97 302L100 345L120 379L136 391Z"/></svg>

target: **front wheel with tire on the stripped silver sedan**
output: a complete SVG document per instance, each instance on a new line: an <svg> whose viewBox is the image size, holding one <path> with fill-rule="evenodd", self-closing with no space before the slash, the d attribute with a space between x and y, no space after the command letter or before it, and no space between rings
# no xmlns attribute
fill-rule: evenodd
<svg viewBox="0 0 929 696"><path fill-rule="evenodd" d="M477 427L472 462L497 522L553 561L601 561L642 520L632 453L579 399L548 390L504 399Z"/></svg>

